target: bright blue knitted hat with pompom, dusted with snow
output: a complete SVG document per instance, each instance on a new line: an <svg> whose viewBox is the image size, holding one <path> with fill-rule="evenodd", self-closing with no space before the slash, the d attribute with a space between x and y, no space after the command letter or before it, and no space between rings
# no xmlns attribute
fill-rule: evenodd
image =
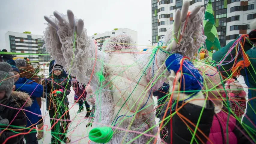
<svg viewBox="0 0 256 144"><path fill-rule="evenodd" d="M170 70L173 70L177 73L180 68L182 58L183 56L179 53L170 55L165 61L167 70L169 72ZM185 91L185 94L190 95L194 93L195 95L197 93L195 91L200 91L203 86L203 77L188 59L183 60L182 73L180 90Z"/></svg>

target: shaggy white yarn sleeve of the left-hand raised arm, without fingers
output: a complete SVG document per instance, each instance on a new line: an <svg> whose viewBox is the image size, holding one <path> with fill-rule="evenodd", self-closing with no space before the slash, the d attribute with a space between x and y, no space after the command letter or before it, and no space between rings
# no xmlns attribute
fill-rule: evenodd
<svg viewBox="0 0 256 144"><path fill-rule="evenodd" d="M64 18L68 21L67 16ZM67 73L75 76L80 84L87 84L91 76L92 80L97 82L95 73L104 73L102 66L107 54L98 50L92 38L88 37L86 29L78 36L70 26L62 26L55 18L53 21L57 23L57 28L48 24L44 33L47 51L56 63L62 65ZM77 21L76 19L76 24Z"/></svg>

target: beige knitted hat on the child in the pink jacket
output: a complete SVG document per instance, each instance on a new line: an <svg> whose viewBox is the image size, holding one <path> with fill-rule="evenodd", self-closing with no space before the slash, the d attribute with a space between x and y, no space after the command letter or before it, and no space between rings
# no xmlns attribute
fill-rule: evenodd
<svg viewBox="0 0 256 144"><path fill-rule="evenodd" d="M221 76L219 75L217 68L212 67L208 64L205 64L201 61L197 61L196 63L194 63L194 66L199 70L200 74L204 78L203 79L204 90L206 90L206 86L207 86L207 89L211 89L216 85L221 84L222 79L221 79Z"/></svg>

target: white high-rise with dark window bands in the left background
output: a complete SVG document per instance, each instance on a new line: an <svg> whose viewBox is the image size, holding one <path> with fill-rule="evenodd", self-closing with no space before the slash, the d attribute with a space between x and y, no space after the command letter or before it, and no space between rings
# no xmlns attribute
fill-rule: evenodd
<svg viewBox="0 0 256 144"><path fill-rule="evenodd" d="M42 35L32 35L31 32L7 32L5 34L5 49L8 52L22 53L13 56L28 57L32 63L44 64L50 61L50 55L37 55L47 54L43 45Z"/></svg>

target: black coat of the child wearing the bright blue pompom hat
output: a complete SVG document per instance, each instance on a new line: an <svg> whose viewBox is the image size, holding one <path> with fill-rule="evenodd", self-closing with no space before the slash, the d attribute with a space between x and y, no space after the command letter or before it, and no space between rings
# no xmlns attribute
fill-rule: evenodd
<svg viewBox="0 0 256 144"><path fill-rule="evenodd" d="M165 103L163 107L163 111L161 112L161 119L163 119L164 111L166 110L168 101ZM178 108L182 104L178 104ZM176 106L175 106L176 107ZM185 104L178 112L190 120L194 125L197 125L197 121L199 119L200 113L201 113L202 107L187 103ZM175 110L172 110L172 113L174 113ZM170 109L167 111L167 116L170 116ZM211 101L207 101L206 108L203 110L203 114L201 116L198 128L202 131L203 134L205 134L207 137L210 133L210 128L212 127L212 120L214 116L214 105ZM183 119L188 126L194 131L195 127L191 125L189 122L187 122L185 119ZM189 131L187 125L182 121L182 119L177 115L174 114L172 117L172 125L170 125L170 119L167 119L164 121L164 124L167 124L165 127L168 129L168 137L166 140L166 143L170 143L172 139L173 144L189 144L192 135ZM172 126L172 137L171 137L171 126ZM206 137L204 137L197 129L196 135L200 137L201 140L203 140L203 143L207 142ZM195 136L195 139L197 142L201 143L201 141ZM196 143L195 140L193 143Z"/></svg>

